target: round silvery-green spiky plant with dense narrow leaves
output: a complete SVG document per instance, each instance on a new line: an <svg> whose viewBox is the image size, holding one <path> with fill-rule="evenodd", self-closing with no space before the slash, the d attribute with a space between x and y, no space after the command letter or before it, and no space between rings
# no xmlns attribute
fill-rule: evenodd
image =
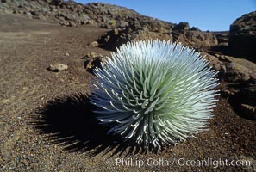
<svg viewBox="0 0 256 172"><path fill-rule="evenodd" d="M133 41L94 70L91 103L109 132L137 144L177 144L207 129L215 71L199 52L162 40Z"/></svg>

